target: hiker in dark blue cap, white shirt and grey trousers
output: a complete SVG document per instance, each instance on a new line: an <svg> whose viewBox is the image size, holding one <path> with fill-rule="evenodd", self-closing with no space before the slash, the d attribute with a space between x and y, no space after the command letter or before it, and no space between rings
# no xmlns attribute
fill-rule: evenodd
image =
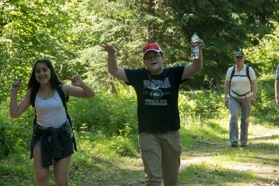
<svg viewBox="0 0 279 186"><path fill-rule="evenodd" d="M244 64L243 52L236 52L234 61L236 65L227 70L224 86L225 105L229 105L231 119L229 121L229 141L232 147L239 142L239 108L241 109L241 147L247 146L249 116L252 105L256 101L257 84L254 70ZM229 98L227 93L229 91Z"/></svg>

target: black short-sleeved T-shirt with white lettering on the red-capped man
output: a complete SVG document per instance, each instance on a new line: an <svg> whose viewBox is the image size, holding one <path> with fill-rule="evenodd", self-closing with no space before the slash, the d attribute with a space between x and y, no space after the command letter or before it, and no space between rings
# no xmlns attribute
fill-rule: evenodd
<svg viewBox="0 0 279 186"><path fill-rule="evenodd" d="M179 130L179 85L185 66L164 68L151 75L145 68L125 69L129 83L137 93L138 133Z"/></svg>

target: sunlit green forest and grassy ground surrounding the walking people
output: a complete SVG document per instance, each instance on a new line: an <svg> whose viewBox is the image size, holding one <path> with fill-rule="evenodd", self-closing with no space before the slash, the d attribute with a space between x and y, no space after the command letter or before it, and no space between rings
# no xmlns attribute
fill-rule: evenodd
<svg viewBox="0 0 279 186"><path fill-rule="evenodd" d="M203 65L180 86L181 160L211 159L181 166L180 184L279 185L278 21L277 0L1 0L0 185L36 185L28 152L34 110L12 119L9 103L10 85L20 78L18 101L24 97L38 59L50 59L64 83L80 75L96 91L94 98L70 98L67 104L79 149L71 162L71 184L144 185L135 90L107 72L107 53L99 44L114 45L117 64L133 69L145 67L142 47L156 43L169 68L193 62L193 32L204 41ZM239 50L255 70L258 91L250 117L254 141L232 150L223 87ZM236 171L236 162L269 173Z"/></svg>

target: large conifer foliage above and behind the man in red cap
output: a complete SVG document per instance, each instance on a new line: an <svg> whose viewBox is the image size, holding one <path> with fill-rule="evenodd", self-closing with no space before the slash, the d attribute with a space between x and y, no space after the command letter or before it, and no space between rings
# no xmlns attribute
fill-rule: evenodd
<svg viewBox="0 0 279 186"><path fill-rule="evenodd" d="M244 3L244 4L243 4ZM84 1L86 21L77 31L92 40L93 47L82 52L86 75L98 86L114 89L107 73L107 54L99 52L104 40L117 49L116 59L123 68L142 68L142 47L156 42L163 49L165 67L188 65L193 31L204 40L204 65L185 86L216 88L239 49L258 44L278 20L278 3L262 1L156 1L147 13L143 1ZM248 7L247 8L243 7ZM260 8L259 8L260 7ZM94 15L94 16L93 16ZM277 17L276 17L277 16ZM255 37L256 36L256 37ZM98 81L95 81L97 80Z"/></svg>

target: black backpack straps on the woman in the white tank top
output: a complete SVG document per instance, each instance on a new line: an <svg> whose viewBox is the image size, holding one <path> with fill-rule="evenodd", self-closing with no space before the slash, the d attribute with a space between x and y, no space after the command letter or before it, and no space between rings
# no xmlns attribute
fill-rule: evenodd
<svg viewBox="0 0 279 186"><path fill-rule="evenodd" d="M65 98L65 94L64 94L64 91L62 90L61 86L58 86L57 88L57 92L62 100L62 103L63 103L63 107L65 107L65 110L66 110L66 114L67 114L67 119L70 123L70 127L72 129L72 134L73 134L73 144L74 144L74 147L75 147L75 152L77 152L77 144L75 142L75 134L74 134L74 131L73 131L73 125L72 125L72 121L70 121L70 116L68 114L68 111L67 111L67 104L66 104L66 98ZM36 108L35 108L35 99L36 99L36 95L38 93L38 90L35 90L33 91L33 93L31 93L31 96L30 96L30 99L33 99L34 100L34 109L35 109L35 118L34 118L34 121L33 121L33 127L36 123L36 120L37 120L37 114L36 114Z"/></svg>

